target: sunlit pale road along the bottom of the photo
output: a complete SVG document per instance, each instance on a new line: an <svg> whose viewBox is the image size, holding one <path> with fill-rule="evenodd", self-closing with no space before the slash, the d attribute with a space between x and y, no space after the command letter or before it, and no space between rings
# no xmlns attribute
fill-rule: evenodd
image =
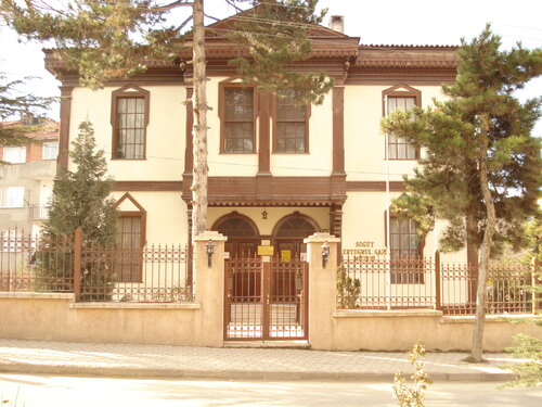
<svg viewBox="0 0 542 407"><path fill-rule="evenodd" d="M430 385L431 406L542 406L542 390L494 382ZM397 407L391 383L206 381L1 374L2 407L376 406Z"/></svg>

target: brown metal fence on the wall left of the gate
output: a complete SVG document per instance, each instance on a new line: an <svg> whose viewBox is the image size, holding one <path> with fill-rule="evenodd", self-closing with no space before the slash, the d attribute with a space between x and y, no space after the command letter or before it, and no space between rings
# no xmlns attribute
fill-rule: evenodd
<svg viewBox="0 0 542 407"><path fill-rule="evenodd" d="M124 249L85 244L80 231L48 239L0 236L0 291L73 292L78 302L181 303L194 300L184 245Z"/></svg>

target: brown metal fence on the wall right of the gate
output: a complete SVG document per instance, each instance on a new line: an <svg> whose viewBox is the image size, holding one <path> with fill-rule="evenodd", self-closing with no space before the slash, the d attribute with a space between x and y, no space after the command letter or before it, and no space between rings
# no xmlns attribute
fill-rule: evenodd
<svg viewBox="0 0 542 407"><path fill-rule="evenodd" d="M534 269L537 268L537 269ZM531 313L527 289L538 265L492 262L487 277L487 314ZM337 271L338 309L440 309L444 315L476 310L476 269L433 258L344 256Z"/></svg>

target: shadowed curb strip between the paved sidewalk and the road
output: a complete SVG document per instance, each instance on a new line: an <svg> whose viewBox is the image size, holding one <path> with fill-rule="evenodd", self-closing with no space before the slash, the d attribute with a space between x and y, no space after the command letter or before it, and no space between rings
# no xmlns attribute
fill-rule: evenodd
<svg viewBox="0 0 542 407"><path fill-rule="evenodd" d="M241 381L339 381L383 382L393 380L393 372L318 372L318 371L266 371L266 370L197 370L134 367L101 367L76 365L0 364L0 373L31 373L57 376L91 376L145 379L209 379ZM501 382L514 379L507 372L428 372L435 382Z"/></svg>

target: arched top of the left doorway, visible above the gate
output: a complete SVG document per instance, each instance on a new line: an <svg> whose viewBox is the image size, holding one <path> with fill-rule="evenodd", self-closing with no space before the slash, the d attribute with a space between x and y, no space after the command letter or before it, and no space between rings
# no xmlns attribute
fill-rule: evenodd
<svg viewBox="0 0 542 407"><path fill-rule="evenodd" d="M232 212L219 218L212 230L228 237L224 251L230 257L248 257L256 253L260 236L256 224L249 217Z"/></svg>

